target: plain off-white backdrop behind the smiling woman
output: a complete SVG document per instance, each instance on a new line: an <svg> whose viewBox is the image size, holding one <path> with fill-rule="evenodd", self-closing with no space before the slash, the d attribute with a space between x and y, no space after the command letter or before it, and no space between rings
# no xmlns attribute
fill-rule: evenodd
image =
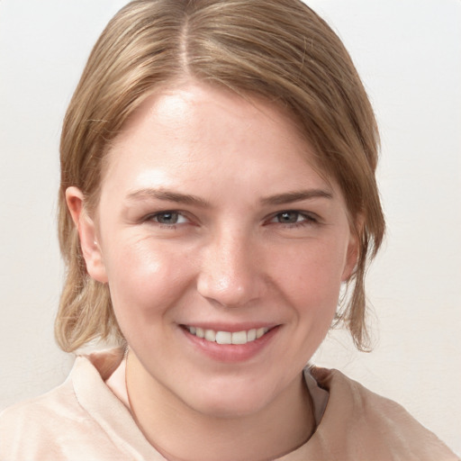
<svg viewBox="0 0 461 461"><path fill-rule="evenodd" d="M52 324L59 131L122 0L0 2L0 409L59 384ZM461 2L308 1L345 42L380 124L388 222L368 274L375 350L332 332L314 361L402 403L461 453Z"/></svg>

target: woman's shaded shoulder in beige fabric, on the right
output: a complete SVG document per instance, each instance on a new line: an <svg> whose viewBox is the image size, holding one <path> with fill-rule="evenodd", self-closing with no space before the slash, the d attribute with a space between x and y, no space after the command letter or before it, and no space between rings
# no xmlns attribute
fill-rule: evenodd
<svg viewBox="0 0 461 461"><path fill-rule="evenodd" d="M341 456L346 450L351 454L348 459L458 459L399 403L369 391L338 370L314 367L311 373L330 393L318 437L343 450Z"/></svg>

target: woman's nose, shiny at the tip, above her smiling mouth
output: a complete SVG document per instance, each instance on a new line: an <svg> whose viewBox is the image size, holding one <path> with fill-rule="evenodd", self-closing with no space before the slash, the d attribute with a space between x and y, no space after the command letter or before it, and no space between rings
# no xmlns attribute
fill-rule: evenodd
<svg viewBox="0 0 461 461"><path fill-rule="evenodd" d="M266 290L262 260L249 238L230 230L203 248L197 291L224 307L241 307Z"/></svg>

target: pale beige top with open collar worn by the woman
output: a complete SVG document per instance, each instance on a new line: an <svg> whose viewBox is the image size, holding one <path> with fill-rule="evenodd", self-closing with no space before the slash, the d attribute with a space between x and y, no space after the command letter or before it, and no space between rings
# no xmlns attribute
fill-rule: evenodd
<svg viewBox="0 0 461 461"><path fill-rule="evenodd" d="M77 357L64 384L5 410L0 415L0 460L164 460L122 402L124 380L105 384L121 361L120 350ZM316 384L310 383L310 374ZM303 447L278 461L459 459L399 404L339 371L312 368L305 375L320 423ZM329 393L328 402L322 390Z"/></svg>

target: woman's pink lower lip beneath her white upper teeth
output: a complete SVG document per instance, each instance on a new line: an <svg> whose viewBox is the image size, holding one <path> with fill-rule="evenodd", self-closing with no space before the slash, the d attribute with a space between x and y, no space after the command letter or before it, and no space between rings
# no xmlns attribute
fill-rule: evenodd
<svg viewBox="0 0 461 461"><path fill-rule="evenodd" d="M217 342L207 341L203 338L191 334L182 328L185 337L194 344L203 354L213 360L226 363L245 362L252 357L256 357L263 348L275 338L280 326L267 331L261 338L249 341L247 344L218 344Z"/></svg>

